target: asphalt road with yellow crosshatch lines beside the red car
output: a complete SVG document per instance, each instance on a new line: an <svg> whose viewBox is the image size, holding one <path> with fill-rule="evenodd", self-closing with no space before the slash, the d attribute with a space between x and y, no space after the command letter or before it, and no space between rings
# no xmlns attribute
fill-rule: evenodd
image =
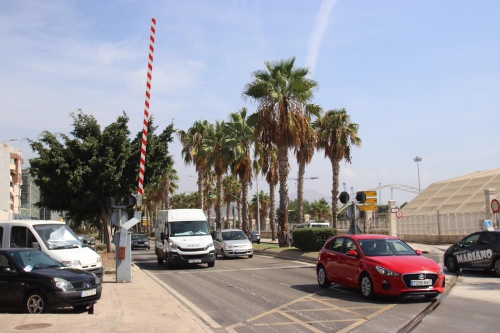
<svg viewBox="0 0 500 333"><path fill-rule="evenodd" d="M396 332L430 301L364 300L357 290L316 282L314 264L254 255L218 259L215 267L166 270L153 250L132 252L150 274L216 332Z"/></svg>

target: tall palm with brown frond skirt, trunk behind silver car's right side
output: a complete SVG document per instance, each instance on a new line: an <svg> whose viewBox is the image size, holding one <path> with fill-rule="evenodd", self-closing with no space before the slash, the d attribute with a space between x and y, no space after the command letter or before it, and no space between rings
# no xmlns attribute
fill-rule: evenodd
<svg viewBox="0 0 500 333"><path fill-rule="evenodd" d="M231 170L238 175L241 182L241 217L242 230L250 236L248 225L248 184L252 179L252 160L250 149L253 144L253 128L248 124L246 117L246 107L241 108L239 112L229 115L230 122L227 123L226 130L230 133L228 142L233 150L234 160L231 164Z"/></svg>

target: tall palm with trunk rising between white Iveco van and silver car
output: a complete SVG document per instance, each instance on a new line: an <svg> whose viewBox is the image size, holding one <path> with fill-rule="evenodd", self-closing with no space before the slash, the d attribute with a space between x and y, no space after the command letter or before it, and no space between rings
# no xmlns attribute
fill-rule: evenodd
<svg viewBox="0 0 500 333"><path fill-rule="evenodd" d="M203 156L213 166L216 176L217 201L215 204L215 225L220 229L222 214L222 176L227 172L233 152L228 144L228 133L224 121L215 122L215 127L206 133L203 142Z"/></svg>

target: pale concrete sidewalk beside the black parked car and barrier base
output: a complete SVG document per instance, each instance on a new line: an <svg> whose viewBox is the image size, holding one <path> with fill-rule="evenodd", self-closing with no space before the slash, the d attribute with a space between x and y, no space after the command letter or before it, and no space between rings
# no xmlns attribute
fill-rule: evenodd
<svg viewBox="0 0 500 333"><path fill-rule="evenodd" d="M132 283L104 275L94 313L0 314L1 332L212 332L169 292L132 265Z"/></svg>

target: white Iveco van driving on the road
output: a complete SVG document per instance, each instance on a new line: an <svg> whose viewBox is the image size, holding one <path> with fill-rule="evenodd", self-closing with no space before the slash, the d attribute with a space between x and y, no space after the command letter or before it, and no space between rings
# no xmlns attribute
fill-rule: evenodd
<svg viewBox="0 0 500 333"><path fill-rule="evenodd" d="M159 211L154 229L154 254L158 265L215 265L215 248L201 209Z"/></svg>

